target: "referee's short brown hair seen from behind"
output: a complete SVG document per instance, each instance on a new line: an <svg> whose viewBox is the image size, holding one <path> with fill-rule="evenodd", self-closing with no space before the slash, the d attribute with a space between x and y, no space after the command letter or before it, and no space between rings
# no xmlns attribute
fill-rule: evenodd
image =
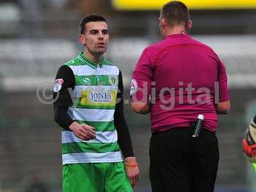
<svg viewBox="0 0 256 192"><path fill-rule="evenodd" d="M189 21L189 10L186 4L180 1L170 1L164 4L160 17L166 19L170 26L181 24L182 22L186 26Z"/></svg>

